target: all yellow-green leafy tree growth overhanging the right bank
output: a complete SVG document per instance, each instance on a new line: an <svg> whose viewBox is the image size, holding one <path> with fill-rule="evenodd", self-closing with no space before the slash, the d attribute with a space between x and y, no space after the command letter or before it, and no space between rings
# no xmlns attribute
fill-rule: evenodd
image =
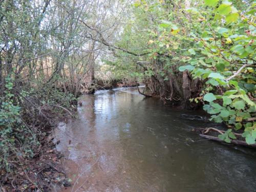
<svg viewBox="0 0 256 192"><path fill-rule="evenodd" d="M248 144L255 143L255 3L249 1L136 1L133 17L116 44L141 56L117 52L118 57L149 61L140 75L169 75L179 81L178 68L203 83L202 92L190 101L203 102L215 122L231 131L243 130ZM238 10L241 9L241 10ZM148 52L148 54L143 54ZM163 63L163 66L161 66ZM138 66L138 65L137 65ZM149 74L149 75L148 75ZM182 97L182 95L181 95Z"/></svg>

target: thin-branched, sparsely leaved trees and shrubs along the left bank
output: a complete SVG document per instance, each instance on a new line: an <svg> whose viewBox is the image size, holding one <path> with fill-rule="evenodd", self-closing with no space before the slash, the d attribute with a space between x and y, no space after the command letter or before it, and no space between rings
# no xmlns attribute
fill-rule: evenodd
<svg viewBox="0 0 256 192"><path fill-rule="evenodd" d="M94 28L110 37L106 29L118 25L112 13L126 5L113 2L0 1L1 169L33 157L53 118L92 84L102 49Z"/></svg>

